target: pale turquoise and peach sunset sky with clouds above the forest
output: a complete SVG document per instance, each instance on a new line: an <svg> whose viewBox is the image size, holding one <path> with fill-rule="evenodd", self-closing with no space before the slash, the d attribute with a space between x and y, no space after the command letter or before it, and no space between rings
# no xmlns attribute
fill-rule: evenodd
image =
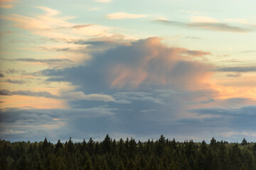
<svg viewBox="0 0 256 170"><path fill-rule="evenodd" d="M0 138L255 142L255 0L0 0Z"/></svg>

